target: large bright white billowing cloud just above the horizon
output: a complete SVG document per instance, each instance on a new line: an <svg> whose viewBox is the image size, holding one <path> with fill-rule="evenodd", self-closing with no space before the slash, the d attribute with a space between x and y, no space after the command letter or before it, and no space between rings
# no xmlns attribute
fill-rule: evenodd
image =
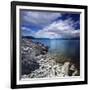
<svg viewBox="0 0 90 90"><path fill-rule="evenodd" d="M35 36L39 38L71 38L78 37L80 30L75 30L74 22L72 19L55 21L49 26L39 30Z"/></svg>

